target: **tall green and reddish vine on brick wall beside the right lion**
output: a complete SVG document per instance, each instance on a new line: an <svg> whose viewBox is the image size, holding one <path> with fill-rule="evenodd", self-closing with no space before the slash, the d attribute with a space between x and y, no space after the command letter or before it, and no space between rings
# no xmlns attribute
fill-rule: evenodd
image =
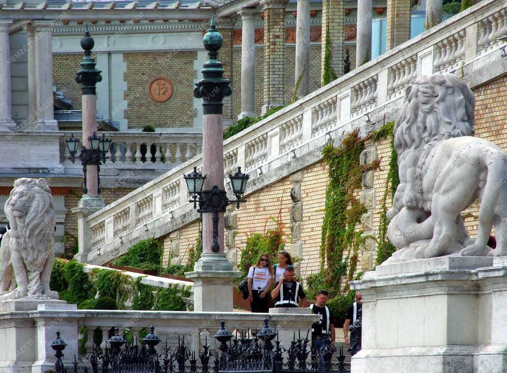
<svg viewBox="0 0 507 373"><path fill-rule="evenodd" d="M391 138L391 159L389 162L388 182L383 198L381 221L385 223L384 231L379 232L383 243L381 255L388 257L392 251L386 238L387 219L385 206L387 195L393 194L399 179L397 178L397 158L393 149L392 131L394 123L385 124L378 131L366 137L359 137L358 132L350 133L341 146L329 144L324 147L322 156L329 168L329 183L325 194L324 218L321 231L320 272L307 277L308 296L310 299L319 289L330 293L329 307L338 317L343 316L347 307L353 302L354 292L348 282L357 279L356 273L359 249L367 239L374 239L356 230L361 216L367 212L363 203L357 198L356 191L361 188L363 174L380 167L380 159L368 164L361 164L360 154L367 141L378 141ZM378 239L377 239L378 241ZM379 246L380 247L380 246ZM383 261L383 260L382 260Z"/></svg>

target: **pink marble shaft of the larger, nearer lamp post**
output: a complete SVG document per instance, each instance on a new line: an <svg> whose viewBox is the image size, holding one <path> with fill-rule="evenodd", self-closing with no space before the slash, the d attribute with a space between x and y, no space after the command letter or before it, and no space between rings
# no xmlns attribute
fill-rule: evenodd
<svg viewBox="0 0 507 373"><path fill-rule="evenodd" d="M222 114L203 116L202 130L202 174L207 175L203 190L210 190L215 185L224 190L224 144L222 133ZM213 214L202 214L202 252L212 253ZM224 213L219 213L220 253L224 253Z"/></svg>

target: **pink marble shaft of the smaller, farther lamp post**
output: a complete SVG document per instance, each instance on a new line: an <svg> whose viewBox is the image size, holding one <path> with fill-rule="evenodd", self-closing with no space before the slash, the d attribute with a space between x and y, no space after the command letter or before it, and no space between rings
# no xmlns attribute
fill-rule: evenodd
<svg viewBox="0 0 507 373"><path fill-rule="evenodd" d="M91 149L88 137L97 131L97 96L82 95L83 99L83 146ZM86 188L89 195L98 195L97 166L86 166Z"/></svg>

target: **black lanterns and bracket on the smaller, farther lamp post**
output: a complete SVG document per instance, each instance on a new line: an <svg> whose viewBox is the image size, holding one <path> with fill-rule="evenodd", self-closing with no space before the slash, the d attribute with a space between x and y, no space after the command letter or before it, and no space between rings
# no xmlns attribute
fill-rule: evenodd
<svg viewBox="0 0 507 373"><path fill-rule="evenodd" d="M67 148L70 153L69 159L72 163L75 162L76 158L81 160L81 164L83 165L83 192L85 194L88 193L88 188L86 187L86 166L88 165L96 165L97 166L97 192L100 193L100 165L105 163L105 155L109 152L109 148L111 147L111 140L106 138L104 134L102 137L97 137L97 134L93 132L93 135L88 137L88 141L90 143L91 149L87 149L85 146L81 147L81 154L76 157L79 148L79 140L74 137L74 134L71 134L70 138L65 140L67 143ZM102 160L102 162L100 162Z"/></svg>

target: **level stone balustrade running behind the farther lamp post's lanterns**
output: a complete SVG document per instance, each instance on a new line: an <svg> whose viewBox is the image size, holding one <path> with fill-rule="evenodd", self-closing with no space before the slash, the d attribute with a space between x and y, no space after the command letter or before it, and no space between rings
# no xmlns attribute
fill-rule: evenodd
<svg viewBox="0 0 507 373"><path fill-rule="evenodd" d="M81 133L63 132L60 154L69 157L65 139L71 134L81 141ZM177 132L97 132L112 140L110 154L102 167L178 166L201 153L202 133Z"/></svg>

